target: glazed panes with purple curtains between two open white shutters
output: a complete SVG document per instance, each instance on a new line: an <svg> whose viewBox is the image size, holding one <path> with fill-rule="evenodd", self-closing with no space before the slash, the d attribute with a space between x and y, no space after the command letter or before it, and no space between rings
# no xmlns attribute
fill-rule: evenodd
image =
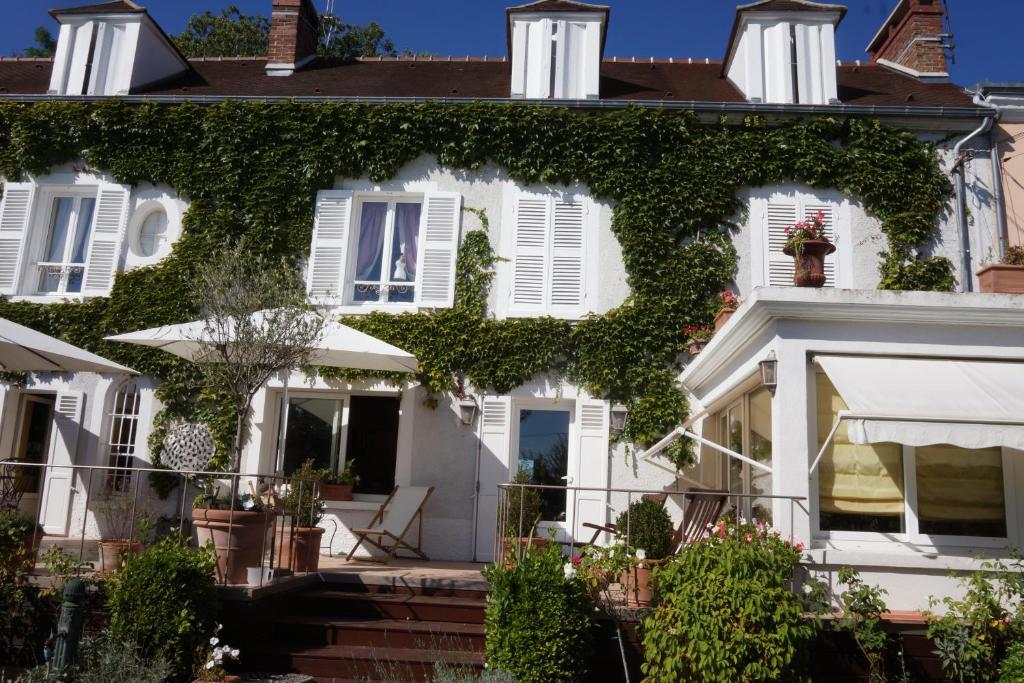
<svg viewBox="0 0 1024 683"><path fill-rule="evenodd" d="M413 303L422 204L410 200L359 203L355 264L349 296L354 303Z"/></svg>

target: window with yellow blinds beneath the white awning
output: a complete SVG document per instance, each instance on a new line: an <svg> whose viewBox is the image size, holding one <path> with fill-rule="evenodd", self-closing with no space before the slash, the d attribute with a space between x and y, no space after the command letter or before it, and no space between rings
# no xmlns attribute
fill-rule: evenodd
<svg viewBox="0 0 1024 683"><path fill-rule="evenodd" d="M820 449L846 403L816 375ZM817 468L823 535L885 533L939 545L1008 538L1002 449L900 443L855 444L840 428Z"/></svg>

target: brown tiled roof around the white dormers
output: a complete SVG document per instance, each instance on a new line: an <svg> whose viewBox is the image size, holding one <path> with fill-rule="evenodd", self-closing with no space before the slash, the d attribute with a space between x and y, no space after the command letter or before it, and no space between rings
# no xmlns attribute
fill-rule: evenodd
<svg viewBox="0 0 1024 683"><path fill-rule="evenodd" d="M256 97L468 97L508 98L511 74L499 59L384 58L314 61L288 77L267 76L260 58L191 59L193 73L140 91L142 95ZM0 59L0 95L44 94L50 61ZM721 76L719 61L601 63L601 97L607 100L742 102ZM951 83L924 83L879 65L837 70L844 104L877 106L971 106Z"/></svg>

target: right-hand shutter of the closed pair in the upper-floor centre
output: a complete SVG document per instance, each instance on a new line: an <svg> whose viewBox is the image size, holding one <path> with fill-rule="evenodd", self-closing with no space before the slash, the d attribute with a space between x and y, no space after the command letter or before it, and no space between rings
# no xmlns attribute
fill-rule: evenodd
<svg viewBox="0 0 1024 683"><path fill-rule="evenodd" d="M579 315L584 308L584 230L587 207L581 199L555 200L551 244L552 312Z"/></svg>

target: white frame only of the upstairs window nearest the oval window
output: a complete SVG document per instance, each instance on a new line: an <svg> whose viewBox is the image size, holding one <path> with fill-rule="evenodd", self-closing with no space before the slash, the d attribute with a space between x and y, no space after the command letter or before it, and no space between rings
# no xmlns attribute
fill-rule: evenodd
<svg viewBox="0 0 1024 683"><path fill-rule="evenodd" d="M78 229L78 217L81 211L82 200L92 199L97 203L99 202L99 188L95 185L38 185L36 188L36 206L35 213L29 220L29 230L30 236L28 238L28 248L27 252L29 258L25 259L25 264L23 267L24 280L22 285L22 290L33 297L42 297L44 299L52 299L53 297L59 298L73 298L80 299L83 298L82 290L78 292L68 292L68 279L74 268L81 269L83 281L82 289L85 289L85 268L89 260L89 247L92 241L92 230L95 229L95 206L93 206L93 216L90 219L89 229L89 242L85 246L85 255L82 263L70 263L69 259L71 253L74 249L76 232ZM46 243L49 239L50 227L53 221L53 207L56 200L65 197L70 197L75 200L74 209L72 211L72 224L73 229L69 234L68 244L65 246L65 258L60 262L48 262L43 261L43 252L46 249ZM42 283L42 268L53 267L60 269L60 284L55 292L44 292L41 289Z"/></svg>

